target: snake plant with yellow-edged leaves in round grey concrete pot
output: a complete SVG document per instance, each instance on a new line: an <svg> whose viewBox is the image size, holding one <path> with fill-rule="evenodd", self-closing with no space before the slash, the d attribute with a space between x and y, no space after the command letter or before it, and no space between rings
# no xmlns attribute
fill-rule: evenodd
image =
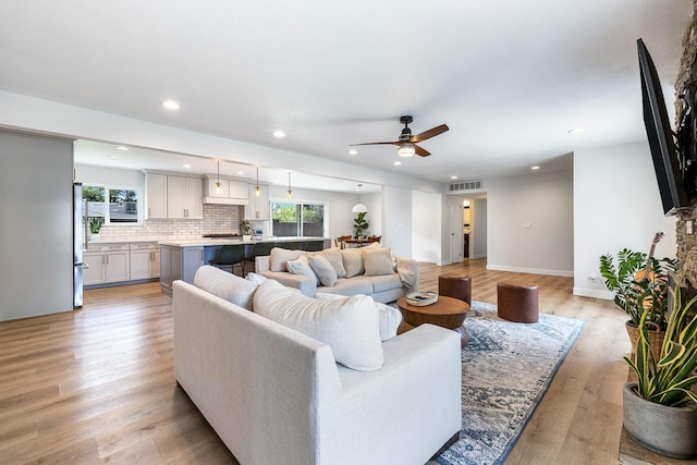
<svg viewBox="0 0 697 465"><path fill-rule="evenodd" d="M639 320L639 340L634 359L624 357L637 376L623 390L624 427L641 445L676 458L697 454L697 315L688 317L697 297L685 306L680 289L673 293L673 309L657 358L651 351L646 322Z"/></svg>

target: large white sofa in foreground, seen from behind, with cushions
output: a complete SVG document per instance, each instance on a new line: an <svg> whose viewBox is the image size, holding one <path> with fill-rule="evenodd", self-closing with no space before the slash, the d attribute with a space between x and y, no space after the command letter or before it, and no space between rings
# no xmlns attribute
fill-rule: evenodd
<svg viewBox="0 0 697 465"><path fill-rule="evenodd" d="M228 299L183 281L173 284L174 371L240 463L423 465L456 440L461 360L454 331L421 325L376 343L369 297L313 299L273 281L257 286L210 268L201 267L195 283ZM319 338L328 329L338 338L331 345L277 322L290 317L293 327L317 305L321 318L341 315L339 325L325 320L317 329ZM369 362L377 363L358 367L365 370L347 368L334 355L342 353L339 333L355 331L356 314L365 334L362 329L348 339L372 347ZM343 348L342 359L365 355Z"/></svg>

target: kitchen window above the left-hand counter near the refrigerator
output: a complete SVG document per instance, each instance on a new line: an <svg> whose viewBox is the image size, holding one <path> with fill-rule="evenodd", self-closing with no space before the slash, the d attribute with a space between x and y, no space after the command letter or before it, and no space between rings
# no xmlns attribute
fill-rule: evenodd
<svg viewBox="0 0 697 465"><path fill-rule="evenodd" d="M138 222L137 191L84 185L83 201L86 203L87 217L100 219L103 224Z"/></svg>

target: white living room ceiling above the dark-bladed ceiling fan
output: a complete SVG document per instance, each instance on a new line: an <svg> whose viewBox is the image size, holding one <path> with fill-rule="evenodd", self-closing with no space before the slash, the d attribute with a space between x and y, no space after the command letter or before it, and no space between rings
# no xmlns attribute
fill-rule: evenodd
<svg viewBox="0 0 697 465"><path fill-rule="evenodd" d="M1 11L0 89L447 183L570 168L579 148L644 140L636 39L672 112L692 1L3 0ZM170 98L179 111L159 106ZM421 144L430 157L395 167L394 146L347 154L395 140L403 114L415 134L450 126Z"/></svg>

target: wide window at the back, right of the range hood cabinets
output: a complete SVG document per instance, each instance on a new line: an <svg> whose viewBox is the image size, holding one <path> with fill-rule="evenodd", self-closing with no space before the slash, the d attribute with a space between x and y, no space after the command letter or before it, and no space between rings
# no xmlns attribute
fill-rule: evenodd
<svg viewBox="0 0 697 465"><path fill-rule="evenodd" d="M272 201L272 235L323 237L328 206L325 204Z"/></svg>

